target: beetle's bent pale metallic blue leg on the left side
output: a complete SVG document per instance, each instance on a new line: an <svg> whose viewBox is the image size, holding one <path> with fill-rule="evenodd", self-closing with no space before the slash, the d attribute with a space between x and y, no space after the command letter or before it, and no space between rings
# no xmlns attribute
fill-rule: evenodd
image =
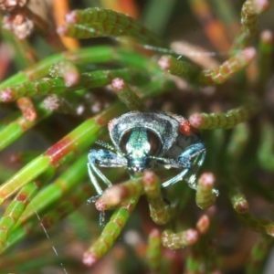
<svg viewBox="0 0 274 274"><path fill-rule="evenodd" d="M104 184L111 187L111 181L100 172L96 165L103 167L121 167L127 164L125 158L121 157L116 153L112 153L108 150L91 150L88 156L88 171L90 175L90 181L94 185L98 195L102 195L103 191L95 177L95 174L101 179Z"/></svg>

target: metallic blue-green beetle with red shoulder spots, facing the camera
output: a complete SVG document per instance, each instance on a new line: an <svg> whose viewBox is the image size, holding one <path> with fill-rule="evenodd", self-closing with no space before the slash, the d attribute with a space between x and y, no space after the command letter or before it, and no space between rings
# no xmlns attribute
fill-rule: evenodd
<svg viewBox="0 0 274 274"><path fill-rule="evenodd" d="M195 174L205 160L205 145L184 117L167 112L131 111L111 120L109 131L114 146L99 141L105 149L91 150L88 156L90 180L98 195L103 191L96 175L108 187L112 184L97 165L126 167L130 173L157 167L178 168L182 171L162 186L185 177L196 188Z"/></svg>

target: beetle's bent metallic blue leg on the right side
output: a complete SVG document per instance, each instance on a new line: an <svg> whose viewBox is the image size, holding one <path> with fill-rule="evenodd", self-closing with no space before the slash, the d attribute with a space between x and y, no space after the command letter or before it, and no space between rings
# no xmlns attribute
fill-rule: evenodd
<svg viewBox="0 0 274 274"><path fill-rule="evenodd" d="M168 160L168 159L167 159ZM189 145L184 153L181 153L177 158L170 159L170 163L166 162L166 165L170 165L174 168L184 168L184 170L171 178L170 180L162 184L163 187L167 187L171 184L175 184L183 180L184 175L188 172L191 173L190 177L187 179L187 183L190 187L196 188L195 185L195 174L199 167L204 163L205 160L205 146L204 143L199 142Z"/></svg>

